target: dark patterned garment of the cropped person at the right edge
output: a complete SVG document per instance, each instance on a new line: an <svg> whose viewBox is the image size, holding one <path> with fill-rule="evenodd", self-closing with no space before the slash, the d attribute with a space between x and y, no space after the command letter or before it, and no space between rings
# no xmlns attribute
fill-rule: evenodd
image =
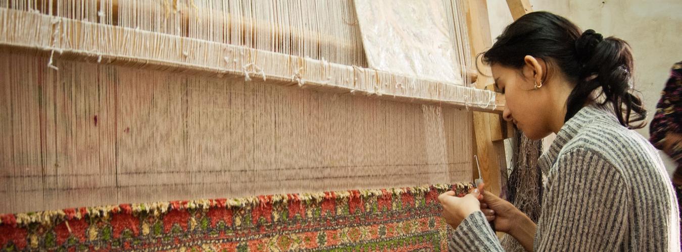
<svg viewBox="0 0 682 252"><path fill-rule="evenodd" d="M675 63L670 70L670 79L663 89L661 99L656 105L656 114L649 127L651 143L663 149L668 133L682 133L682 61ZM676 175L682 176L682 144L673 146L667 153L677 161Z"/></svg>

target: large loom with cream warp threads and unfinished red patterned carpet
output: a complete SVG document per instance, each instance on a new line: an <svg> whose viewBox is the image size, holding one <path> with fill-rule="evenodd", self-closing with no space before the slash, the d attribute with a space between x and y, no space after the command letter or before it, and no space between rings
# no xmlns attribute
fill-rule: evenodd
<svg viewBox="0 0 682 252"><path fill-rule="evenodd" d="M0 247L445 249L434 195L470 188L474 113L503 108L469 19L457 0L0 1Z"/></svg>

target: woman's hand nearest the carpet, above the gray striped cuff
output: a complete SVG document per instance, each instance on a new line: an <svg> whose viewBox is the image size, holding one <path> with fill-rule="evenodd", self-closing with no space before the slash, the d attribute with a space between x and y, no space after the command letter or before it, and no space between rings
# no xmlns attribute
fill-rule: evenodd
<svg viewBox="0 0 682 252"><path fill-rule="evenodd" d="M473 189L471 193L462 198L455 196L454 191L446 191L438 196L438 200L443 205L443 218L445 222L457 228L460 223L472 212L481 210L481 195L478 189Z"/></svg>

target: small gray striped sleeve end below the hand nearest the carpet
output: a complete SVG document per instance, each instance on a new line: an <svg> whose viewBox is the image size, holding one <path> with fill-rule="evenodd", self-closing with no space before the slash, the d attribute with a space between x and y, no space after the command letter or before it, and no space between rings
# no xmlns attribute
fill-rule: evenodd
<svg viewBox="0 0 682 252"><path fill-rule="evenodd" d="M503 251L481 211L471 213L455 229L448 243L448 251Z"/></svg>

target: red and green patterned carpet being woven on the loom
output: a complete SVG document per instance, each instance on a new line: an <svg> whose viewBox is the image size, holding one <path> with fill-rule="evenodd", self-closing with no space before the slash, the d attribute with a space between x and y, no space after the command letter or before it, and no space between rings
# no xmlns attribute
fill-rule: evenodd
<svg viewBox="0 0 682 252"><path fill-rule="evenodd" d="M0 251L444 251L438 195L471 184L0 215Z"/></svg>

